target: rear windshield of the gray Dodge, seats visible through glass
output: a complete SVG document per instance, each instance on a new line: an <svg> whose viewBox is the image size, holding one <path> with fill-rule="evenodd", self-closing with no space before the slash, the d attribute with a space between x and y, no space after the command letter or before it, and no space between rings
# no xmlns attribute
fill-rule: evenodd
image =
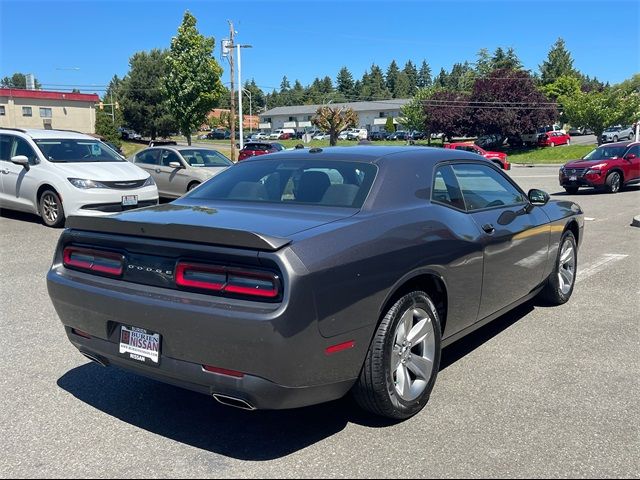
<svg viewBox="0 0 640 480"><path fill-rule="evenodd" d="M370 163L265 160L239 163L189 198L361 208L376 175Z"/></svg>

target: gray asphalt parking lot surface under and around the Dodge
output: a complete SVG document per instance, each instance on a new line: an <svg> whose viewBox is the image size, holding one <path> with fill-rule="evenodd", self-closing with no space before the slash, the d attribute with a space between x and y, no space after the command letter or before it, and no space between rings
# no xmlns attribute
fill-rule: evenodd
<svg viewBox="0 0 640 480"><path fill-rule="evenodd" d="M640 189L568 196L587 217L571 301L528 303L448 347L429 405L403 423L347 400L243 412L89 363L45 274L59 230L0 216L2 477L638 477Z"/></svg>

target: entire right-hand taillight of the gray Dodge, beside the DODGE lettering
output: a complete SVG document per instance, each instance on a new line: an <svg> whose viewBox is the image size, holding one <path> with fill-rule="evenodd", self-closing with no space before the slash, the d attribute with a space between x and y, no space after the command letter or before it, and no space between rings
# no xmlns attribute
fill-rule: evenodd
<svg viewBox="0 0 640 480"><path fill-rule="evenodd" d="M267 299L280 296L280 278L274 273L191 262L178 262L176 285Z"/></svg>

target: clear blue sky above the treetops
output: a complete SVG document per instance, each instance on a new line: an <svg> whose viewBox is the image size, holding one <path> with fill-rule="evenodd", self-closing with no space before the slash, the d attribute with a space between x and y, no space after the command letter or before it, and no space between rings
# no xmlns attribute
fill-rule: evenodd
<svg viewBox="0 0 640 480"><path fill-rule="evenodd" d="M243 79L255 78L266 91L283 75L307 85L316 76L335 79L347 66L360 78L372 63L386 70L392 59L401 68L426 59L437 73L475 61L483 47L514 47L525 67L537 70L558 37L588 75L617 83L640 71L637 0L0 0L0 76L31 72L52 90L105 85L127 73L136 51L168 48L185 10L201 33L215 37L218 59L232 20L237 40L253 46L243 50Z"/></svg>

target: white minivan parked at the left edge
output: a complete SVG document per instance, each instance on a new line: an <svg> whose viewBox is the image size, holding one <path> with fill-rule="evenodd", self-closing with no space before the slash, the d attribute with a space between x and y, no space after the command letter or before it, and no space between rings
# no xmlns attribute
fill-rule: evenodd
<svg viewBox="0 0 640 480"><path fill-rule="evenodd" d="M158 203L144 170L101 141L62 130L0 128L0 207L40 215L106 215Z"/></svg>

